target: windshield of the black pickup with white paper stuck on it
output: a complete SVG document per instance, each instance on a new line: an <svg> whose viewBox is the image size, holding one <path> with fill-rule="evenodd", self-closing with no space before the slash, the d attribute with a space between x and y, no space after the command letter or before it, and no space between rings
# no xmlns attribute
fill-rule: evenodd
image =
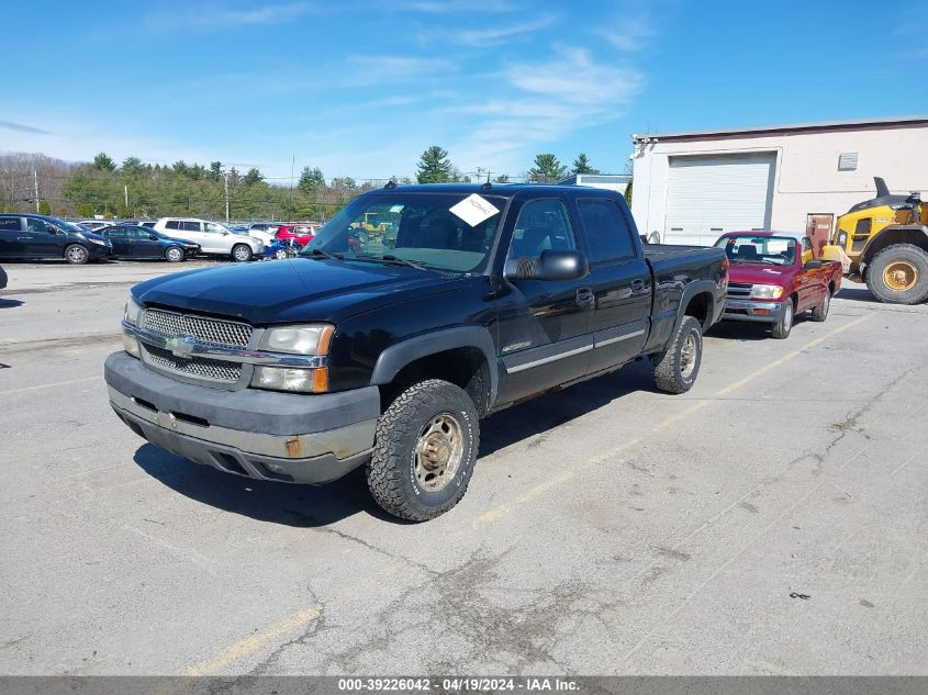
<svg viewBox="0 0 928 695"><path fill-rule="evenodd" d="M503 198L467 193L364 195L322 227L301 255L313 256L315 249L348 260L412 261L468 272L487 259L504 205Z"/></svg>

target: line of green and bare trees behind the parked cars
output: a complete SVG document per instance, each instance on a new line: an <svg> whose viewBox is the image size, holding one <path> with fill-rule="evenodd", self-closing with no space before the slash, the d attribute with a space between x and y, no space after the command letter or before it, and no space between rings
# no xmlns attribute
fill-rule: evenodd
<svg viewBox="0 0 928 695"><path fill-rule="evenodd" d="M485 169L462 173L448 152L426 148L415 177L398 183L555 182L569 173L599 173L581 153L568 168L549 153L515 177ZM491 179L492 176L492 179ZM326 220L355 195L382 187L388 179L327 179L318 167L303 167L287 184L268 181L257 168L238 171L222 161L209 166L183 160L148 164L137 157L116 162L105 153L90 162L68 162L38 154L0 154L0 212L40 212L56 216L160 217L189 215L236 220Z"/></svg>

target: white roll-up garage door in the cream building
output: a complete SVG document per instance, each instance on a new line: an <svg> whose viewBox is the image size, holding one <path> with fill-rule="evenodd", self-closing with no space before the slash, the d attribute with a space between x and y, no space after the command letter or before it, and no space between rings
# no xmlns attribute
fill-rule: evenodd
<svg viewBox="0 0 928 695"><path fill-rule="evenodd" d="M709 246L724 232L769 229L775 153L671 157L666 244Z"/></svg>

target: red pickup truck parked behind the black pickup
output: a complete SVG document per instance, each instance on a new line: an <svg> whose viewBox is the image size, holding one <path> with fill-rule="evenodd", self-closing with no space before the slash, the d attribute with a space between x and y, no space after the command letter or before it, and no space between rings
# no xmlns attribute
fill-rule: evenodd
<svg viewBox="0 0 928 695"><path fill-rule="evenodd" d="M730 264L723 320L769 323L774 338L785 338L796 314L812 310L813 321L828 317L841 289L841 264L823 260L804 234L731 232L715 246Z"/></svg>

